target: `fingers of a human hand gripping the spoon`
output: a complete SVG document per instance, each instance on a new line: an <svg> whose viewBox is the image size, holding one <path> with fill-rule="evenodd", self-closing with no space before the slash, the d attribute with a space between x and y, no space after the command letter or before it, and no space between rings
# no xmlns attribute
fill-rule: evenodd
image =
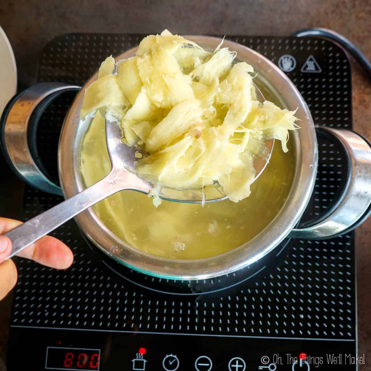
<svg viewBox="0 0 371 371"><path fill-rule="evenodd" d="M21 221L0 218L0 300L14 287L17 282L17 268L13 260L6 257L12 251L12 242L1 234L22 224ZM72 251L58 239L45 236L32 245L26 247L17 256L35 260L42 265L56 269L66 269L73 262Z"/></svg>

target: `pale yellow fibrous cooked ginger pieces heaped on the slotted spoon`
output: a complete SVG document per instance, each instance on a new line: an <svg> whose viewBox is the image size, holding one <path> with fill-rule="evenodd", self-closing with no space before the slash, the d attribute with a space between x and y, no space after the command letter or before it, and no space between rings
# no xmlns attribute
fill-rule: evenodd
<svg viewBox="0 0 371 371"><path fill-rule="evenodd" d="M114 110L126 144L144 145L149 155L135 172L155 185L156 204L161 187L214 181L240 201L250 194L254 158L267 156L265 140L279 139L287 152L295 112L259 103L252 66L233 64L235 58L221 45L208 52L165 30L145 37L133 58L115 63L108 57L86 89L81 118Z"/></svg>

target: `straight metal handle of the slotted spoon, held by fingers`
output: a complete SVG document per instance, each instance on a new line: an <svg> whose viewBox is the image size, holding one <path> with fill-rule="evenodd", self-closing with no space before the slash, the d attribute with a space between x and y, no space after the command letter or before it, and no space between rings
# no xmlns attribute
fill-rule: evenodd
<svg viewBox="0 0 371 371"><path fill-rule="evenodd" d="M111 172L91 187L4 233L4 236L9 237L12 241L12 253L7 259L73 218L76 214L125 188L121 182L115 182L113 179Z"/></svg>

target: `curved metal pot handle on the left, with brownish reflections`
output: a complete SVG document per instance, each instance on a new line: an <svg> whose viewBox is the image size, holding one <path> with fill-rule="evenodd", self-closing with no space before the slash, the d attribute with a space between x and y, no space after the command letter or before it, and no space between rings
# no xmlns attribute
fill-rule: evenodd
<svg viewBox="0 0 371 371"><path fill-rule="evenodd" d="M42 82L15 95L0 119L0 147L4 157L23 181L38 190L63 196L61 188L46 177L36 150L36 128L46 107L66 91L80 86Z"/></svg>

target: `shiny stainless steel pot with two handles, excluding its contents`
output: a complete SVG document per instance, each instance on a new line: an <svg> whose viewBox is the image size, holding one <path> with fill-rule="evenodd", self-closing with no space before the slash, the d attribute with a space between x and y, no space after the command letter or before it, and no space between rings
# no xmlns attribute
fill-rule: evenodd
<svg viewBox="0 0 371 371"><path fill-rule="evenodd" d="M213 50L220 39L207 36L186 36L204 49ZM286 237L321 239L348 232L368 217L371 210L371 148L358 134L346 130L321 128L321 135L337 138L348 156L349 177L341 197L332 209L312 226L295 229L309 202L316 179L318 153L316 129L311 113L302 96L281 70L259 53L234 42L224 41L223 46L237 52L238 59L251 64L258 72L256 83L262 86L280 105L294 110L301 120L301 129L292 134L295 145L296 170L288 198L275 219L254 239L223 255L201 260L172 260L156 257L129 246L116 237L89 209L76 221L88 238L104 253L120 263L149 275L170 279L206 279L225 275L246 267L275 249ZM128 50L117 59L134 55L136 48ZM65 118L59 140L58 167L63 195L66 198L83 190L79 171L82 139L88 124L79 120L84 88L97 78L96 73L78 93ZM24 180L39 189L56 193L55 186L43 175L32 160L27 148L25 132L33 109L45 97L76 89L75 86L43 83L31 87L6 110L3 128L3 147L9 162L22 174ZM25 104L30 102L31 104ZM25 139L26 138L26 139ZM19 146L22 143L22 147ZM22 148L22 150L20 150Z"/></svg>

